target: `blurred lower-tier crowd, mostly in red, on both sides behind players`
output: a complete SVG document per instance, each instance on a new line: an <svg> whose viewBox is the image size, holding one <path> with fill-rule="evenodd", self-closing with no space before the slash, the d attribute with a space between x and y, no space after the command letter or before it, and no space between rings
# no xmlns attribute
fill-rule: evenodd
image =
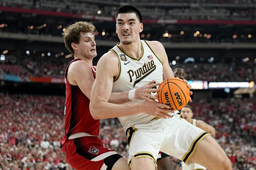
<svg viewBox="0 0 256 170"><path fill-rule="evenodd" d="M193 101L194 117L216 129L216 141L233 168L255 170L256 99ZM69 170L61 151L64 136L63 96L0 93L0 168ZM117 118L101 120L103 144L127 157L127 140ZM176 170L179 160L172 158Z"/></svg>

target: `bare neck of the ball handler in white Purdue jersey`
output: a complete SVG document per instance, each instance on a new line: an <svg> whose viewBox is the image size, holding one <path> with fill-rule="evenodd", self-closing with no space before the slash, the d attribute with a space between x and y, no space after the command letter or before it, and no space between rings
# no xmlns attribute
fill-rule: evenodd
<svg viewBox="0 0 256 170"><path fill-rule="evenodd" d="M139 58L141 56L141 41L135 41L129 45L124 45L122 42L119 44L119 47L124 50L125 53L129 54L130 56Z"/></svg>

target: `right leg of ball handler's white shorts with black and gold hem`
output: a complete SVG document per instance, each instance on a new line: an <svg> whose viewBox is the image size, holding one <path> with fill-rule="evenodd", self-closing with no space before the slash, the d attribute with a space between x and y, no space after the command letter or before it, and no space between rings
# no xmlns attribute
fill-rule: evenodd
<svg viewBox="0 0 256 170"><path fill-rule="evenodd" d="M178 114L174 115L172 119L163 124L165 142L160 150L189 165L190 158L200 141L210 134L193 126Z"/></svg>

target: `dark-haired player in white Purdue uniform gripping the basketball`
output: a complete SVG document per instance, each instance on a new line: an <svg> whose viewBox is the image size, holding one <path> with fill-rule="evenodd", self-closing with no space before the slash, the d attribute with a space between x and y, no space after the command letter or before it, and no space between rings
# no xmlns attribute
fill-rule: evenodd
<svg viewBox="0 0 256 170"><path fill-rule="evenodd" d="M134 97L134 90L150 80L159 83L174 75L163 45L158 41L140 40L143 24L137 8L127 5L120 7L116 20L116 32L121 43L98 62L97 76L91 90L90 111L95 119L105 118L109 114L113 117L123 114L119 120L126 130L131 169L154 170L157 168L158 152L162 151L186 164L195 162L208 169L231 170L225 152L209 133L191 125L176 114L177 111L172 118L155 117L152 112L156 112L157 101L146 108L147 101ZM131 101L125 104L109 103L112 91L129 91Z"/></svg>

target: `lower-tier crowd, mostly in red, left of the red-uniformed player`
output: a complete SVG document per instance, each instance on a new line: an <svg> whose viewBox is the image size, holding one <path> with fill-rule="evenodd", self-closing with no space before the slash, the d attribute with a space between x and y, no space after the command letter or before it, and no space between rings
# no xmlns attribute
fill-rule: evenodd
<svg viewBox="0 0 256 170"><path fill-rule="evenodd" d="M64 97L0 94L2 170L70 169L61 140Z"/></svg>

